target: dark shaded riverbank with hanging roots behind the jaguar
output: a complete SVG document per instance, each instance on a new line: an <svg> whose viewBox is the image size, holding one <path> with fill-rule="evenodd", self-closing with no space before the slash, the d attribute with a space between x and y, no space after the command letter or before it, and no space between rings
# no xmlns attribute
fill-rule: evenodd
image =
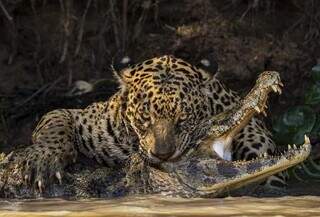
<svg viewBox="0 0 320 217"><path fill-rule="evenodd" d="M246 93L263 70L285 87L268 119L304 104L320 64L317 0L0 0L0 151L30 143L55 108L85 107L116 90L111 65L173 54L219 65L218 77ZM77 80L97 88L66 97ZM102 81L102 82L100 82ZM318 112L318 106L312 109ZM271 117L271 118L270 118Z"/></svg>

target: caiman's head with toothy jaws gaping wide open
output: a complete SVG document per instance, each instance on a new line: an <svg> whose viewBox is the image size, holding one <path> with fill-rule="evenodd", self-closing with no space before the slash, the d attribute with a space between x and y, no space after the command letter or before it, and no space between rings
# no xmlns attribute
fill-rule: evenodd
<svg viewBox="0 0 320 217"><path fill-rule="evenodd" d="M207 138L200 142L200 148L211 153L216 150L217 145L227 149L233 136L245 126L253 115L265 113L264 109L269 92L281 93L280 86L282 83L277 72L262 73L255 87L240 101L236 108L219 114L200 126L208 128L206 130ZM309 156L310 149L310 140L305 136L305 143L299 148L288 146L288 150L281 156L268 156L265 153L251 161L205 159L199 157L198 153L194 153L194 158L175 164L162 164L162 169L169 172L170 175L166 176L166 173L153 175L151 173L154 179L152 183L155 183L153 189L156 190L158 188L156 186L165 186L162 187L161 192L168 191L184 196L217 196L250 183L262 181L268 176L302 162ZM180 190L174 191L174 188Z"/></svg>

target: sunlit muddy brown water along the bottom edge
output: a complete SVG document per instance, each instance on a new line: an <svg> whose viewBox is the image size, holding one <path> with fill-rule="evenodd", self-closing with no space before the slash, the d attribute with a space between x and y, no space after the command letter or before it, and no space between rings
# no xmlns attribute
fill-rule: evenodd
<svg viewBox="0 0 320 217"><path fill-rule="evenodd" d="M320 216L320 197L0 201L0 216Z"/></svg>

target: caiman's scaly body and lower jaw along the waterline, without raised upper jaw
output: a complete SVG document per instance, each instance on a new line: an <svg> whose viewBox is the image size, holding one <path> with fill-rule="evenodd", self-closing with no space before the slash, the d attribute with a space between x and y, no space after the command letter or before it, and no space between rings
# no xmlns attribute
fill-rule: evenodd
<svg viewBox="0 0 320 217"><path fill-rule="evenodd" d="M63 184L53 183L42 194L11 177L3 185L6 198L67 197L116 198L136 194L165 194L182 197L217 197L240 187L259 183L268 176L295 166L310 154L310 142L284 154L251 161L225 161L190 156L155 168L139 161L123 170L95 168L83 164L70 168ZM3 174L1 174L3 175ZM17 185L20 182L20 185Z"/></svg>

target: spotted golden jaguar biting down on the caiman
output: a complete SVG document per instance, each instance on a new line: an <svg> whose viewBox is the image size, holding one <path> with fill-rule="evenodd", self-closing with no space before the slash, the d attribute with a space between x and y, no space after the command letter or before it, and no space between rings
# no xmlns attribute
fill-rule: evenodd
<svg viewBox="0 0 320 217"><path fill-rule="evenodd" d="M207 139L202 124L212 117L221 119L241 99L212 72L165 55L114 74L120 87L111 98L84 109L47 113L32 134L32 144L10 154L24 182L36 183L40 191L53 180L61 183L65 168L83 161L82 155L114 168L126 165L136 153L149 165L176 162L200 146L228 161L275 152L271 133L252 115L232 133ZM279 85L280 80L270 87L281 92ZM265 113L261 107L254 109ZM285 179L272 176L268 183L285 185Z"/></svg>

